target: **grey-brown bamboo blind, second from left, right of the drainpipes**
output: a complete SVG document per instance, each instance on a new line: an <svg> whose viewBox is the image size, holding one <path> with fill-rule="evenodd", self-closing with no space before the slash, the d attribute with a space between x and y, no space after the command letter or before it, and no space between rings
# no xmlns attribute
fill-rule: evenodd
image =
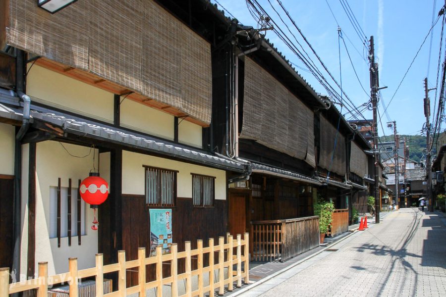
<svg viewBox="0 0 446 297"><path fill-rule="evenodd" d="M240 137L315 166L313 112L249 58L245 59Z"/></svg>

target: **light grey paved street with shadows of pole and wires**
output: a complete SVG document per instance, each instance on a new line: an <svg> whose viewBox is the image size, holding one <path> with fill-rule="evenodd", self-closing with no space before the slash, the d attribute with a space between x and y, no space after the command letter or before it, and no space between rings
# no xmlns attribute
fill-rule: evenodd
<svg viewBox="0 0 446 297"><path fill-rule="evenodd" d="M446 296L445 224L395 211L241 296Z"/></svg>

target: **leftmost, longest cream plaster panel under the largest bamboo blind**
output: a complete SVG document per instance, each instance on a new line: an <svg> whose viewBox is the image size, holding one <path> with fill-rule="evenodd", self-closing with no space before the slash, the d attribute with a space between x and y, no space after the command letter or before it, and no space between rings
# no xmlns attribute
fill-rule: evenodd
<svg viewBox="0 0 446 297"><path fill-rule="evenodd" d="M106 122L113 121L113 94L34 65L26 78L33 100Z"/></svg>

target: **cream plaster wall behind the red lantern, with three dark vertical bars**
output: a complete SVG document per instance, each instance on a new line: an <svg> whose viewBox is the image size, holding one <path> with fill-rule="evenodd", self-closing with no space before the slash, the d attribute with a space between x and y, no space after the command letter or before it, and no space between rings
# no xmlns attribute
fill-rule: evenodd
<svg viewBox="0 0 446 297"><path fill-rule="evenodd" d="M85 269L95 266L95 254L98 252L98 232L91 230L93 210L86 204L85 223L86 235L81 238L81 245L77 243L77 236L71 238L71 247L68 247L68 238L61 238L60 247L57 247L57 238L50 238L50 187L57 187L57 178L61 178L61 187L71 185L77 188L78 180L86 178L93 169L93 153L95 152L95 167L99 168L98 150L89 147L63 144L46 141L37 144L36 161L36 268L38 262L48 261L50 275L68 271L68 258L78 258L78 268ZM90 154L89 154L90 152ZM71 156L70 154L74 156ZM87 155L86 157L83 157ZM73 198L73 197L72 197Z"/></svg>

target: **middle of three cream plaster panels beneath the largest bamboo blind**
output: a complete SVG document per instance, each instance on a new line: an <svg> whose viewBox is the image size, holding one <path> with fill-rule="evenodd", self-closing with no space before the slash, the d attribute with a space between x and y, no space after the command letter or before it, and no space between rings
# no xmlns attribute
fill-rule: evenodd
<svg viewBox="0 0 446 297"><path fill-rule="evenodd" d="M121 101L124 97L121 97ZM130 99L120 105L122 127L173 140L173 116Z"/></svg>

